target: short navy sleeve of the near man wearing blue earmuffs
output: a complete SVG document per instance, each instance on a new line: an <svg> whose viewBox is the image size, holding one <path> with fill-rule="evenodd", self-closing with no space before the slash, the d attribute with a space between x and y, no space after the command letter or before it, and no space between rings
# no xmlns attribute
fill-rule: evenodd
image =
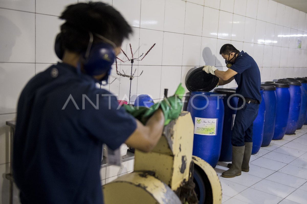
<svg viewBox="0 0 307 204"><path fill-rule="evenodd" d="M99 107L85 103L82 123L92 136L117 149L136 129L136 119L126 112L114 95L99 94ZM97 100L97 94L91 101Z"/></svg>

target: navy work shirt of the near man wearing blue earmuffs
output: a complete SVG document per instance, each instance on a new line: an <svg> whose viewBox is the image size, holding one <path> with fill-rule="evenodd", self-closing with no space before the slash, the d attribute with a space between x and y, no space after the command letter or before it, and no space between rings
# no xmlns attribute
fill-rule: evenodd
<svg viewBox="0 0 307 204"><path fill-rule="evenodd" d="M58 63L23 89L13 155L22 203L103 203L102 144L118 148L136 121L124 108L116 110L116 97L96 82Z"/></svg>

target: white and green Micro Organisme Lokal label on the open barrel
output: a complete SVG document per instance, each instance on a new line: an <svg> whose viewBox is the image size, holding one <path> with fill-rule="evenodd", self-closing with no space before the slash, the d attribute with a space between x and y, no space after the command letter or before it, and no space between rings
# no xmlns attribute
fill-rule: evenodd
<svg viewBox="0 0 307 204"><path fill-rule="evenodd" d="M218 118L195 117L194 134L216 135Z"/></svg>

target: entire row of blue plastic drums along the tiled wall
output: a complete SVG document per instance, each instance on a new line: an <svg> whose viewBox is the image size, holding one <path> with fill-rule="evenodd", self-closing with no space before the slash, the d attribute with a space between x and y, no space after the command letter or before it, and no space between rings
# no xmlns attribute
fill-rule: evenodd
<svg viewBox="0 0 307 204"><path fill-rule="evenodd" d="M253 123L252 154L268 146L272 139L282 139L307 124L307 78L267 81L261 88L262 102ZM235 89L214 92L192 92L187 106L195 125L193 155L213 168L218 161L231 161L231 132L238 103L238 98L233 97Z"/></svg>

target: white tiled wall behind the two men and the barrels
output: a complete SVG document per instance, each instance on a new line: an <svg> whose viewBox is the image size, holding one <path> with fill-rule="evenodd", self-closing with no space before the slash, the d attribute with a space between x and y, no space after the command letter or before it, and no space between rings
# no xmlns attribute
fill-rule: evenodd
<svg viewBox="0 0 307 204"><path fill-rule="evenodd" d="M95 0L97 1L97 0ZM14 119L18 95L36 73L56 63L53 42L58 18L65 5L78 0L0 1L0 129ZM86 2L85 0L79 2ZM306 13L272 0L103 0L118 9L133 27L134 35L122 49L131 58L140 56L156 43L142 60L135 61L131 98L149 94L155 101L165 88L173 94L193 67L215 65L226 70L220 47L232 43L258 63L262 81L307 76ZM154 2L154 3L153 3ZM297 40L302 40L301 49ZM124 61L125 56L119 55ZM131 72L131 63L119 62L120 71ZM116 78L116 79L115 79ZM128 97L130 80L116 75L105 88L120 98ZM223 87L235 87L233 82ZM125 98L128 100L127 98ZM0 165L7 160L7 131L0 134ZM6 149L3 152L3 149ZM3 174L6 168L0 168ZM2 180L1 180L2 181ZM0 203L6 203L2 186Z"/></svg>

